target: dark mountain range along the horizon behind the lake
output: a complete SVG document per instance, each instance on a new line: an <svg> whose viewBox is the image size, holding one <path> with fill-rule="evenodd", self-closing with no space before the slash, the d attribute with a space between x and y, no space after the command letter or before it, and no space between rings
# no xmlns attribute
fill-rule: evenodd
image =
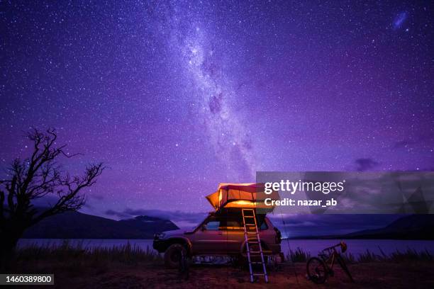
<svg viewBox="0 0 434 289"><path fill-rule="evenodd" d="M336 221L333 227L339 225L340 222ZM30 227L23 238L152 239L155 233L171 229L179 229L179 227L161 217L140 215L126 220L111 220L82 212L64 212ZM316 229L311 230L311 232L315 231ZM291 239L434 239L434 215L404 215L378 229L364 229L350 234L309 235Z"/></svg>

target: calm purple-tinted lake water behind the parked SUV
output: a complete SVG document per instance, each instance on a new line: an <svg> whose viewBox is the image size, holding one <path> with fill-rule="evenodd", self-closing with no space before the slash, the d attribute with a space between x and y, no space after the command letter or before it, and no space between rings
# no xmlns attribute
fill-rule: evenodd
<svg viewBox="0 0 434 289"><path fill-rule="evenodd" d="M26 247L31 244L37 244L38 246L58 246L64 242L64 239L20 239L18 242L19 247ZM289 248L294 250L297 247L309 252L311 255L318 254L318 251L325 247L338 244L341 240L282 240L282 251L287 252ZM81 244L84 248L94 247L112 247L123 246L127 243L131 246L138 246L146 249L146 247L152 248L152 239L70 239L69 243L72 245ZM385 254L390 254L396 250L405 251L406 249L414 249L416 251L429 251L430 254L434 254L434 241L421 241L421 240L345 240L348 245L348 253L355 256L364 253L366 250L373 252L374 254L381 254L384 251Z"/></svg>

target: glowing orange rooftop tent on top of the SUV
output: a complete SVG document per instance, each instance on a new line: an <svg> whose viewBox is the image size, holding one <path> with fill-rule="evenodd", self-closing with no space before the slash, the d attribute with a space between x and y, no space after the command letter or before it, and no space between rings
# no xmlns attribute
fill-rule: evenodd
<svg viewBox="0 0 434 289"><path fill-rule="evenodd" d="M265 198L279 200L279 193L264 193L263 183L220 183L216 192L206 196L216 211L221 208L257 208L271 212L274 206L265 205Z"/></svg>

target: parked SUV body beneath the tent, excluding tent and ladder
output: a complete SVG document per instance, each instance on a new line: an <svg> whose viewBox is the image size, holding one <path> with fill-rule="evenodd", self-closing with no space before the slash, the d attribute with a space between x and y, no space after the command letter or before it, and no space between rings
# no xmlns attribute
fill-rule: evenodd
<svg viewBox="0 0 434 289"><path fill-rule="evenodd" d="M256 217L264 255L281 254L282 234L279 229L274 227L265 215L257 214ZM253 245L253 251L258 250L255 246L257 245ZM177 268L182 252L187 256L245 256L241 209L210 212L199 226L190 231L177 229L155 234L153 247L160 253L165 252L167 268Z"/></svg>

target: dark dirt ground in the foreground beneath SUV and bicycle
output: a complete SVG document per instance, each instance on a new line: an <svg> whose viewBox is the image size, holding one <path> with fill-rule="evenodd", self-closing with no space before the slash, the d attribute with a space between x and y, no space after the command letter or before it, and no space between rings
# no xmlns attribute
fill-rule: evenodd
<svg viewBox="0 0 434 289"><path fill-rule="evenodd" d="M177 270L166 270L161 263L108 264L86 269L80 268L80 264L66 265L68 270L52 270L52 288L434 288L434 264L427 262L352 264L349 268L355 283L336 268L335 276L323 285L306 280L304 263L284 264L279 271L269 271L269 283L262 277L257 283L250 283L247 270L232 266L191 266L189 280L182 280Z"/></svg>

